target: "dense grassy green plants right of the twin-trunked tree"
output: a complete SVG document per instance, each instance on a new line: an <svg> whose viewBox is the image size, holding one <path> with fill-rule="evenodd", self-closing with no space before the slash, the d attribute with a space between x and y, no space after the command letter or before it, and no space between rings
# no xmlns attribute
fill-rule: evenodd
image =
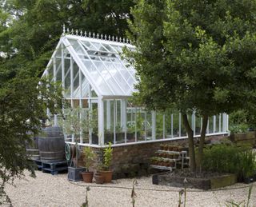
<svg viewBox="0 0 256 207"><path fill-rule="evenodd" d="M250 177L256 170L256 153L246 146L213 145L204 149L202 168L219 173L237 173L238 178Z"/></svg>

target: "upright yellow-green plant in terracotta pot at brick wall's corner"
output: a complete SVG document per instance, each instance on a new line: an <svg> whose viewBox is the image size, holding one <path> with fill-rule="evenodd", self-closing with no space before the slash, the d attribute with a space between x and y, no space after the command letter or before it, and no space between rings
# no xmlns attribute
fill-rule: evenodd
<svg viewBox="0 0 256 207"><path fill-rule="evenodd" d="M110 170L110 165L113 157L113 149L111 148L111 142L109 142L108 147L103 150L103 163L100 166L99 173L101 173L104 177L104 182L111 182L113 175L113 171Z"/></svg>

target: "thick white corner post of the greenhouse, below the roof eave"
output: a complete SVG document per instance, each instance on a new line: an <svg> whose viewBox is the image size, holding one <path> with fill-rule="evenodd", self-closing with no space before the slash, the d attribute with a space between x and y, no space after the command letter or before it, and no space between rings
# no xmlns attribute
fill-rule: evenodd
<svg viewBox="0 0 256 207"><path fill-rule="evenodd" d="M98 98L98 145L104 145L104 102Z"/></svg>

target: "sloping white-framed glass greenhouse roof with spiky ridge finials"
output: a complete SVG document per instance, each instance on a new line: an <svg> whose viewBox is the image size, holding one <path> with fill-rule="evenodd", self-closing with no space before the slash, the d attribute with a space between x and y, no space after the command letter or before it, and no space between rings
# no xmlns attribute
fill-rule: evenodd
<svg viewBox="0 0 256 207"><path fill-rule="evenodd" d="M120 56L125 46L129 50L135 50L127 39L82 34L82 32L79 35L78 31L76 34L72 31L70 34L68 30L65 30L43 76L49 74L50 67L54 64L54 57L72 58L85 77L82 79L82 90L89 90L90 85L98 97L130 97L135 92L134 84L137 81L134 67ZM62 64L64 65L64 63L59 65ZM56 72L54 76L57 76ZM78 88L74 90L74 96L75 94L78 94Z"/></svg>

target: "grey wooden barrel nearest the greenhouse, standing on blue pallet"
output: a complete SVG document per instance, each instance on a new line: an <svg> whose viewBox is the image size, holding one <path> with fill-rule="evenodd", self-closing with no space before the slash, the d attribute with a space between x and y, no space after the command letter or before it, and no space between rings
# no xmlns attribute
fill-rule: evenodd
<svg viewBox="0 0 256 207"><path fill-rule="evenodd" d="M38 149L41 161L65 160L65 141L62 129L59 126L42 129L42 134L38 137Z"/></svg>

